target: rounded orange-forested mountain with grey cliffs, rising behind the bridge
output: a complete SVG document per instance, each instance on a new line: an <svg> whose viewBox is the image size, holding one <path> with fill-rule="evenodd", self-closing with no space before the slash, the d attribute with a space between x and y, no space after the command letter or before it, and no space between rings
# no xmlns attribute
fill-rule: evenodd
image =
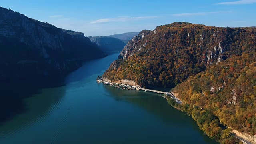
<svg viewBox="0 0 256 144"><path fill-rule="evenodd" d="M118 81L144 87L169 87L184 82L211 65L255 51L256 28L219 28L176 22L143 30L128 42L104 73Z"/></svg>

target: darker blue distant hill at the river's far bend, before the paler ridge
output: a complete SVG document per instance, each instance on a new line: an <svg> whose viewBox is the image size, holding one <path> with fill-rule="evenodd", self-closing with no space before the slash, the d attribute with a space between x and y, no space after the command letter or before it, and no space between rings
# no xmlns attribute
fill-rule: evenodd
<svg viewBox="0 0 256 144"><path fill-rule="evenodd" d="M96 43L106 54L120 52L126 45L122 40L108 36L95 36L88 38L90 38L92 42Z"/></svg>

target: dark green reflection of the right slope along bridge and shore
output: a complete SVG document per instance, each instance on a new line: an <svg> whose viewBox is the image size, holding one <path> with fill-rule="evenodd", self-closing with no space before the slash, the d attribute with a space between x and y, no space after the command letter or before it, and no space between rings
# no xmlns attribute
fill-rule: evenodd
<svg viewBox="0 0 256 144"><path fill-rule="evenodd" d="M130 102L154 114L170 128L170 131L175 132L175 135L179 133L183 135L183 132L186 131L186 133L191 134L185 137L193 139L193 137L196 137L196 134L193 133L196 132L205 142L217 144L217 142L204 135L191 117L168 105L166 99L162 98L160 94L138 90L122 90L106 85L104 85L104 88L110 93L108 96L115 100ZM172 136L170 136L170 139L172 139Z"/></svg>

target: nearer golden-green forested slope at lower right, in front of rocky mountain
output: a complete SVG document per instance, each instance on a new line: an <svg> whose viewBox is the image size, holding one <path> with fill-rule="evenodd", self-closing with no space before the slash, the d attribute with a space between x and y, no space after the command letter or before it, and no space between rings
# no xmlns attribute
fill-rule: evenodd
<svg viewBox="0 0 256 144"><path fill-rule="evenodd" d="M256 134L256 53L232 56L178 84L173 92L190 106L186 111L200 128L210 133L202 110L218 117L223 125ZM213 128L218 128L214 126ZM220 134L220 129L216 135ZM219 135L220 136L220 135Z"/></svg>

